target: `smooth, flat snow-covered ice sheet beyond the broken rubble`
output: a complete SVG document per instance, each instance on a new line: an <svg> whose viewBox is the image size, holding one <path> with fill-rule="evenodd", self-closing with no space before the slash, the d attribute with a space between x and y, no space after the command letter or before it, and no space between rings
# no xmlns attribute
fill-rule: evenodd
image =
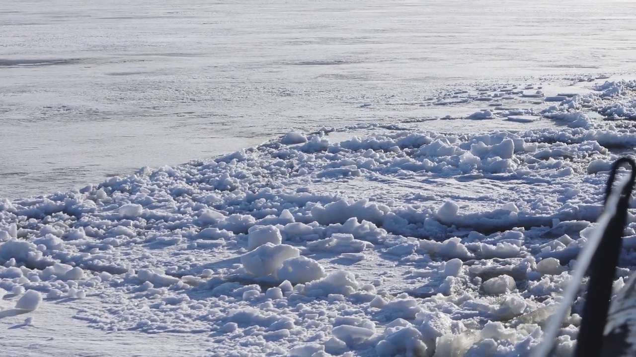
<svg viewBox="0 0 636 357"><path fill-rule="evenodd" d="M635 17L617 0L3 1L0 197L453 114L422 105L448 86L630 71Z"/></svg>

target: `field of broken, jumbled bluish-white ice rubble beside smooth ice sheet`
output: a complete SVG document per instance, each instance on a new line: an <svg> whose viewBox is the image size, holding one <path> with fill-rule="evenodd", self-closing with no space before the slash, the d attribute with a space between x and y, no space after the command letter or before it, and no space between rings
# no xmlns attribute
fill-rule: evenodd
<svg viewBox="0 0 636 357"><path fill-rule="evenodd" d="M446 96L485 104L442 118L449 125L505 119L518 130L290 132L214 160L4 199L3 349L527 356L594 227L607 170L636 145L624 120L636 116L636 81L603 82ZM497 104L507 97L536 102ZM635 229L616 288L636 262ZM581 302L558 356L576 342Z"/></svg>

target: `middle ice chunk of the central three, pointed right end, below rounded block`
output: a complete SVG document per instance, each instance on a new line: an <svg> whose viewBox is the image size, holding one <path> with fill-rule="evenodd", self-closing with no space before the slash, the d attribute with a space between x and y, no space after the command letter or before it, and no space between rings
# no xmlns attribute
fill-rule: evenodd
<svg viewBox="0 0 636 357"><path fill-rule="evenodd" d="M240 257L245 271L255 276L268 276L282 267L286 259L300 256L300 250L291 245L265 243Z"/></svg>

